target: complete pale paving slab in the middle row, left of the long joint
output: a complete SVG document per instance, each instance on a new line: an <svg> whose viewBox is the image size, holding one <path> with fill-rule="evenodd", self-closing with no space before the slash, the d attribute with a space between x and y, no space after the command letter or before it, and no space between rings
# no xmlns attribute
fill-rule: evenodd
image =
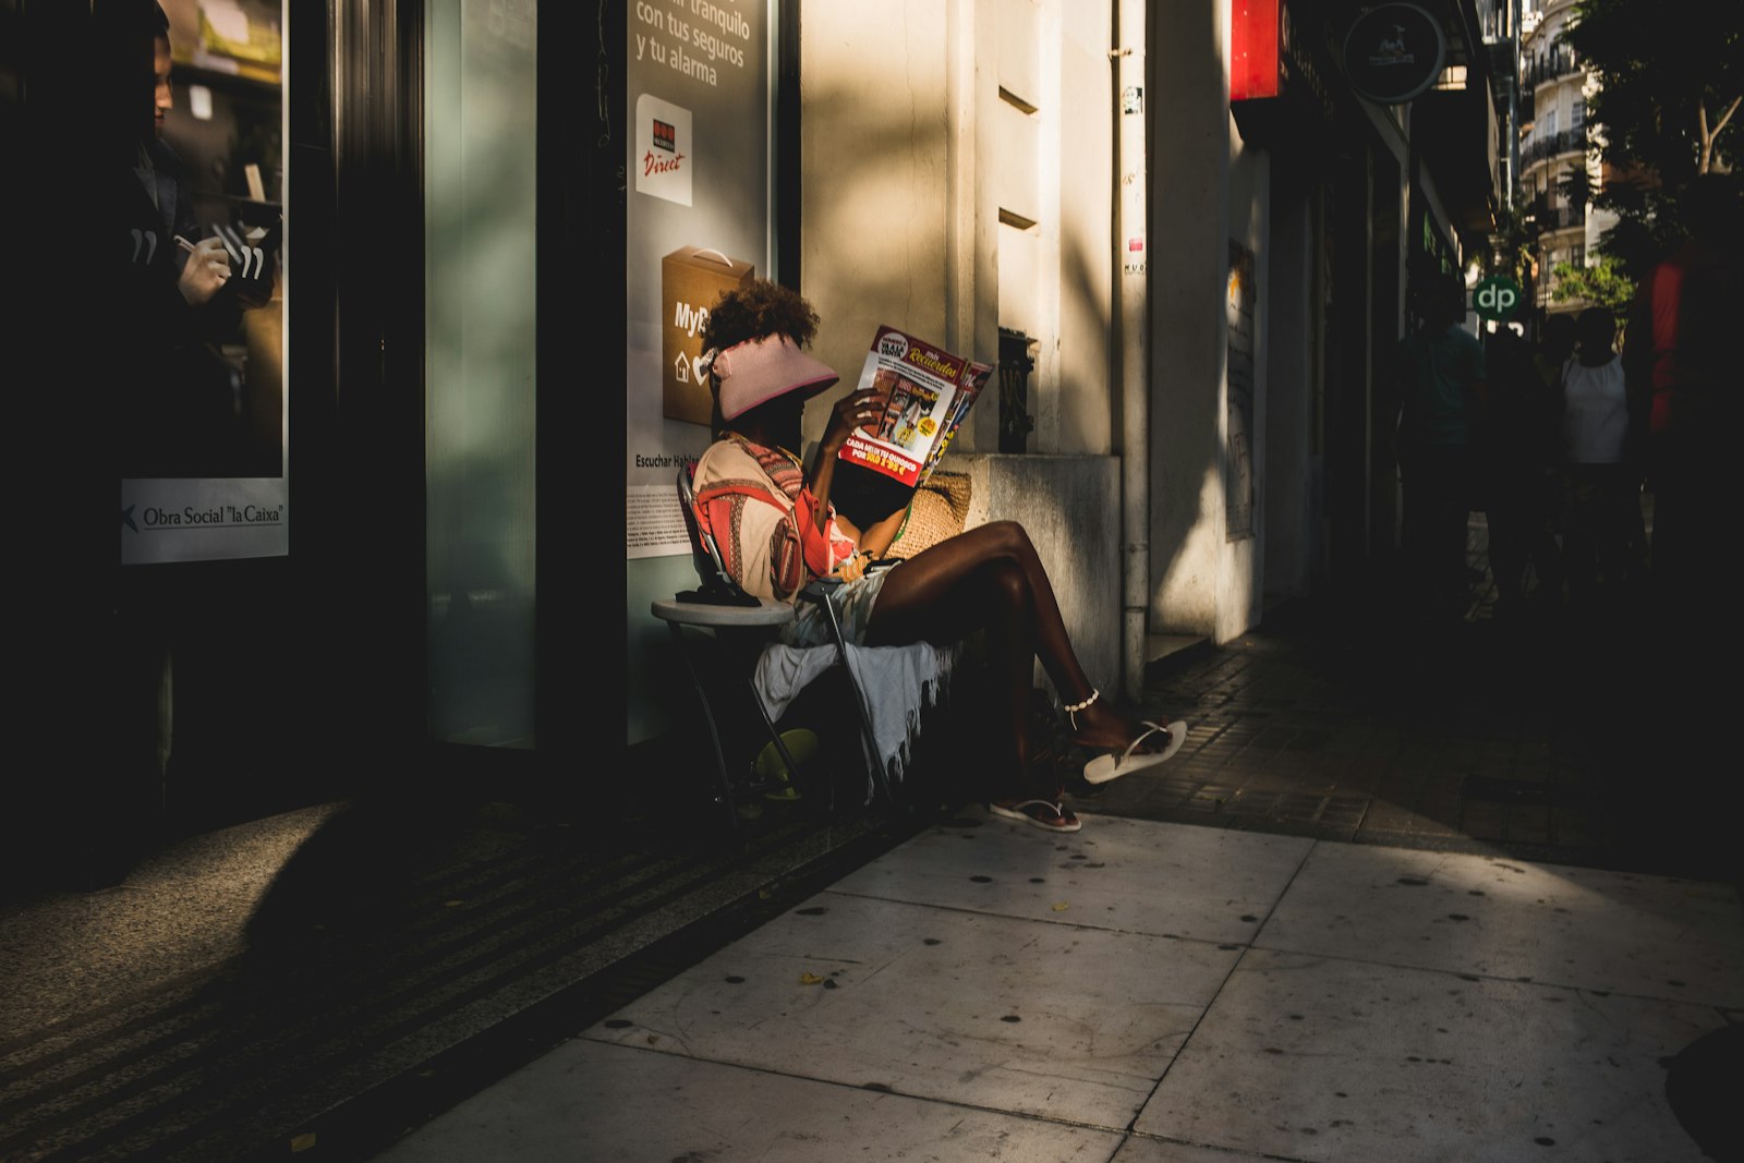
<svg viewBox="0 0 1744 1163"><path fill-rule="evenodd" d="M586 1037L1125 1128L1240 949L821 893Z"/></svg>

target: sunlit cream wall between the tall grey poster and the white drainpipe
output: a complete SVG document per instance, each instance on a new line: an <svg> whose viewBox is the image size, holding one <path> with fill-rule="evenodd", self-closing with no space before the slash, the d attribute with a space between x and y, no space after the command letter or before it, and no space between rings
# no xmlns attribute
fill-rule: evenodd
<svg viewBox="0 0 1744 1163"><path fill-rule="evenodd" d="M849 384L884 323L987 361L1001 324L1039 340L1029 448L1073 455L996 455L989 392L945 467L975 474L975 516L1034 527L1080 657L1113 689L1109 35L1111 7L1078 0L806 0L800 289ZM1034 225L1001 227L1001 209ZM846 391L807 408L807 439Z"/></svg>

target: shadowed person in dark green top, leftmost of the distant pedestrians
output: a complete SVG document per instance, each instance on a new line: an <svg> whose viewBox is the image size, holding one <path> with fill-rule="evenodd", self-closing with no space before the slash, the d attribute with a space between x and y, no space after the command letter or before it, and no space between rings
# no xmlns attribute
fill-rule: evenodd
<svg viewBox="0 0 1744 1163"><path fill-rule="evenodd" d="M1411 288L1421 319L1399 342L1399 471L1404 549L1418 595L1432 610L1467 598L1465 528L1472 509L1474 434L1484 408L1484 347L1467 333L1465 296L1451 275Z"/></svg>

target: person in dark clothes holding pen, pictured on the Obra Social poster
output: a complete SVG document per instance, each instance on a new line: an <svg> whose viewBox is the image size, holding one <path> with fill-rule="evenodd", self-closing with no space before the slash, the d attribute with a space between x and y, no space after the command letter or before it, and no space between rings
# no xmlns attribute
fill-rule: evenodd
<svg viewBox="0 0 1744 1163"><path fill-rule="evenodd" d="M239 378L213 350L241 324L227 289L230 255L218 237L199 237L181 160L164 143L171 108L169 17L145 7L141 24L122 30L119 68L138 52L152 63L150 103L140 92L136 133L119 145L110 211L126 274L117 302L138 352L138 375L117 387L120 476L223 476L225 450L241 439ZM150 120L143 110L150 110Z"/></svg>

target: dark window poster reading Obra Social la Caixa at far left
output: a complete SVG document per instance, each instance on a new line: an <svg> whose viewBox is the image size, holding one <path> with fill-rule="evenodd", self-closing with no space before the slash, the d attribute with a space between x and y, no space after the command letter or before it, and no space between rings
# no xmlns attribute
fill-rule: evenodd
<svg viewBox="0 0 1744 1163"><path fill-rule="evenodd" d="M286 12L159 0L140 139L105 242L126 270L117 335L124 565L279 556L290 544ZM126 331L120 331L126 326Z"/></svg>

